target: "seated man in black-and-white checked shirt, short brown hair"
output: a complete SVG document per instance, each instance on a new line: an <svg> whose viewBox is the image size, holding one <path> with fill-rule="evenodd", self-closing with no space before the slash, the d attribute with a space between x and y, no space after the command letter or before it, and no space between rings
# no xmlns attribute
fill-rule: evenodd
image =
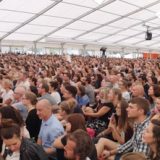
<svg viewBox="0 0 160 160"><path fill-rule="evenodd" d="M132 138L123 145L119 145L116 149L111 151L104 151L102 157L110 157L116 155L119 159L122 154L133 151L142 152L145 155L149 153L149 146L142 141L142 134L149 124L150 117L147 116L149 112L149 102L141 97L133 98L129 107L127 108L128 118L134 121L134 133Z"/></svg>

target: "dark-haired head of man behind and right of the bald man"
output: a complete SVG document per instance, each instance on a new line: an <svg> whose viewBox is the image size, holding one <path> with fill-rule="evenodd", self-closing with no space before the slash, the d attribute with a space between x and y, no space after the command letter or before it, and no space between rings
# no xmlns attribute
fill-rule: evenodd
<svg viewBox="0 0 160 160"><path fill-rule="evenodd" d="M63 92L63 97L65 99L75 98L77 94L77 88L75 86L67 85Z"/></svg>

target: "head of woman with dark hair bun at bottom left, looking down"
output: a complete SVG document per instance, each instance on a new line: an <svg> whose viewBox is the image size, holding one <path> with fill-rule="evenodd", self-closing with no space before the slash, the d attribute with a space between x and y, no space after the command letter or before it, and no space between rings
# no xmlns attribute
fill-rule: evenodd
<svg viewBox="0 0 160 160"><path fill-rule="evenodd" d="M1 138L5 146L12 152L19 151L22 139L19 125L11 120L3 121Z"/></svg>

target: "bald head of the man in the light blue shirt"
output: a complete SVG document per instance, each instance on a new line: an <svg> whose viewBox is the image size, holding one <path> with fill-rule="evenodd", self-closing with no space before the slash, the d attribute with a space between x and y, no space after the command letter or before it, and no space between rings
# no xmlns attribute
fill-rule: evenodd
<svg viewBox="0 0 160 160"><path fill-rule="evenodd" d="M46 121L52 115L52 105L47 99L42 99L37 102L36 109L37 115L40 119Z"/></svg>

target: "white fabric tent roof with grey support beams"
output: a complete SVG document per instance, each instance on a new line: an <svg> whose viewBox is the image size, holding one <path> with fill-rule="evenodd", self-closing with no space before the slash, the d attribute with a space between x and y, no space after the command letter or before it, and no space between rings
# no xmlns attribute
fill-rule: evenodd
<svg viewBox="0 0 160 160"><path fill-rule="evenodd" d="M65 40L160 49L160 0L2 0L0 41ZM147 27L153 34L145 41Z"/></svg>

